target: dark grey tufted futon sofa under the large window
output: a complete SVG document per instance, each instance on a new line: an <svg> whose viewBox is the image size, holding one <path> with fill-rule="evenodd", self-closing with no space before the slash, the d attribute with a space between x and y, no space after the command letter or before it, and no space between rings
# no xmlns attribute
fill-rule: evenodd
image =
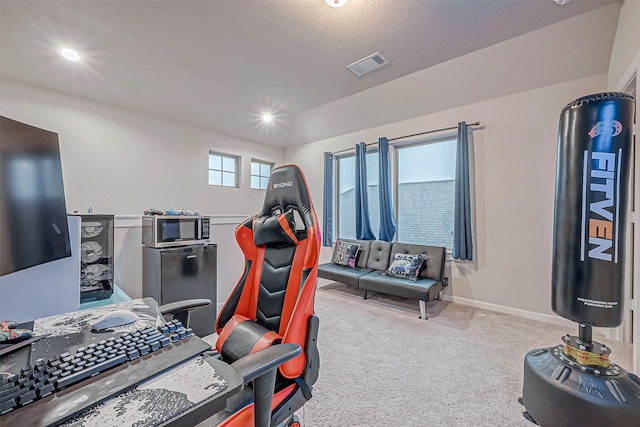
<svg viewBox="0 0 640 427"><path fill-rule="evenodd" d="M340 258L336 256L340 243L357 247L355 259L351 259L347 265L336 261ZM397 254L426 255L422 269L417 272L416 277L402 278L389 275L390 265L395 264L393 260L402 257ZM442 246L338 239L332 261L318 266L318 277L362 289L365 299L367 291L417 299L420 301L420 317L426 320L426 303L439 299L440 292L448 285L448 279L444 277L445 256L446 249Z"/></svg>

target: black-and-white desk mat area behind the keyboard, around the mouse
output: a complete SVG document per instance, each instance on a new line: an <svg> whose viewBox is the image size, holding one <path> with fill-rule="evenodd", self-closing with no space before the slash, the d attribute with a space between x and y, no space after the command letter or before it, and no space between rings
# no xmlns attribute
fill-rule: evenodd
<svg viewBox="0 0 640 427"><path fill-rule="evenodd" d="M117 304L104 305L90 310L73 311L71 313L57 314L55 316L37 319L33 323L33 334L52 336L73 334L91 329L90 322L115 310L130 310L139 317L128 325L109 328L114 332L135 331L146 326L157 327L162 319L141 299L119 302Z"/></svg>

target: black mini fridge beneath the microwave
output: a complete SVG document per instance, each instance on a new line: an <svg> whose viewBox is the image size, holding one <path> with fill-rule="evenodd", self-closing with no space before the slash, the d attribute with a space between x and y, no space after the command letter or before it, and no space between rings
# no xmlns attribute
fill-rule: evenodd
<svg viewBox="0 0 640 427"><path fill-rule="evenodd" d="M142 247L142 294L158 304L207 298L211 305L191 312L190 327L200 336L215 332L217 246ZM186 326L186 325L185 325Z"/></svg>

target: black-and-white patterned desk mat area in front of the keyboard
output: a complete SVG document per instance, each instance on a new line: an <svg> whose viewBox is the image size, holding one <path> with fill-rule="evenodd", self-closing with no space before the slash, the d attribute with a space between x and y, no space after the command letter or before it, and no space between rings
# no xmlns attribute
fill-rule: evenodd
<svg viewBox="0 0 640 427"><path fill-rule="evenodd" d="M67 427L149 427L163 425L228 387L202 357L192 359L137 388L66 422Z"/></svg>

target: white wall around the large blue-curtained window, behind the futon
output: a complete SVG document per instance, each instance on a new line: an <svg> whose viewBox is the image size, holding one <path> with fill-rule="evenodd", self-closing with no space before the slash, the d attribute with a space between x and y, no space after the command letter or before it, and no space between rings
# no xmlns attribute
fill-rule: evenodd
<svg viewBox="0 0 640 427"><path fill-rule="evenodd" d="M461 277L450 279L446 293L454 301L562 322L551 310L558 119L566 104L605 87L604 74L582 78L289 148L285 157L307 173L321 216L323 151L480 121L482 129L474 132L475 260L456 262ZM322 259L329 256L324 249Z"/></svg>

